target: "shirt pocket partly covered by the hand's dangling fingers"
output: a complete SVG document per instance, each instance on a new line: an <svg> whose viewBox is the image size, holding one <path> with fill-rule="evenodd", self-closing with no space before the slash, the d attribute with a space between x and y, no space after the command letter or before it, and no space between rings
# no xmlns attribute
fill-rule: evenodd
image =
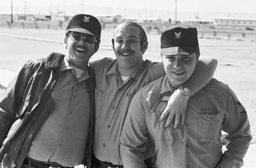
<svg viewBox="0 0 256 168"><path fill-rule="evenodd" d="M150 126L149 132L152 132L150 133L151 138L155 139L155 141L171 141L175 136L175 130L170 127L164 127L168 117L159 121L161 114L162 113L149 113L150 121L147 125Z"/></svg>

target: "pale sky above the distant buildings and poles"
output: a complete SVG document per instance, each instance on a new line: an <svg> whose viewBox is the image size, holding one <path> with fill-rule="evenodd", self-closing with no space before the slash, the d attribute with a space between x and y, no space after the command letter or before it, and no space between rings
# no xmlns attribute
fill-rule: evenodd
<svg viewBox="0 0 256 168"><path fill-rule="evenodd" d="M151 9L153 9L153 12L157 9L170 11L170 13L175 11L175 0L12 0L12 2L13 14L49 14L49 11L56 13L57 10L65 9L67 14L72 15L75 12L82 12L82 2L83 12L90 14L118 14L122 10L129 16L134 12L130 11L130 9L141 9L141 14L137 15L143 17L145 9L147 9L146 12L148 14L151 13ZM11 0L0 0L0 4L0 14L11 13ZM71 7L73 8L71 9ZM105 10L97 7L105 7ZM119 8L119 11L116 8ZM177 0L177 13L225 12L255 14L255 8L256 0ZM121 15L124 15L124 12Z"/></svg>

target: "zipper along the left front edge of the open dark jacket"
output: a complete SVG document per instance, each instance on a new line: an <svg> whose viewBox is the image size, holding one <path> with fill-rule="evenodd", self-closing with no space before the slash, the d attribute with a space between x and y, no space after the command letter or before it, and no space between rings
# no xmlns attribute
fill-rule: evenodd
<svg viewBox="0 0 256 168"><path fill-rule="evenodd" d="M59 71L57 71L57 72L58 72L58 77L59 77L60 72L59 72ZM58 77L57 77L57 78L55 79L55 81L53 82L52 87L50 88L49 92L47 93L47 97L46 97L45 100L43 101L43 105L42 105L41 109L39 110L39 113L36 115L36 117L34 118L34 121L33 121L33 122L31 123L31 125L29 126L29 129L28 129L28 131L26 132L22 143L20 143L20 147L19 147L19 150L18 150L18 154L16 155L16 157L15 157L15 159L14 159L12 165L11 165L11 168L16 167L16 161L17 161L17 159L18 159L18 156L20 155L20 151L21 151L21 149L22 149L22 145L23 145L23 143L25 142L25 140L26 140L26 138L27 138L27 134L29 133L29 130L31 129L32 125L36 122L36 118L37 118L37 117L39 116L39 114L41 113L41 110L43 109L43 106L44 106L46 100L48 99L48 97L49 97L49 95L50 95L50 92L51 92L51 90L52 90L52 88L53 88L53 86L54 86L56 80L58 79Z"/></svg>

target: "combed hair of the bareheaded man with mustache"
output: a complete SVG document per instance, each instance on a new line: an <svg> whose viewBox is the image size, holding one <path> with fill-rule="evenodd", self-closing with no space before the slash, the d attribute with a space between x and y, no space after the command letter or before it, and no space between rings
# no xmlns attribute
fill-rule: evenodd
<svg viewBox="0 0 256 168"><path fill-rule="evenodd" d="M112 45L113 45L113 49L114 49L114 38L115 38L115 35L117 34L117 32L124 28L124 27L128 27L128 26L133 26L133 27L138 27L139 28L139 31L140 31L140 38L141 38L141 51L144 47L144 44L146 41L148 41L148 37L147 37L147 34L145 32L145 30L142 28L141 25L139 25L138 23L134 22L134 21L124 21L123 23L120 23L119 25L117 25L117 27L115 27L115 30L114 30L114 33L113 33L113 36L112 36ZM145 49L148 48L148 45L146 46ZM145 50L146 51L146 50ZM144 54L144 52L143 52Z"/></svg>

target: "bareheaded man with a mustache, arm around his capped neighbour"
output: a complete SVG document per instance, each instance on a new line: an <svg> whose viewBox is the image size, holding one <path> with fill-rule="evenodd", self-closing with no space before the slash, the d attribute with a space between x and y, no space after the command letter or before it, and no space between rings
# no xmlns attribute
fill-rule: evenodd
<svg viewBox="0 0 256 168"><path fill-rule="evenodd" d="M146 32L138 23L125 21L119 24L114 30L112 45L117 59L106 57L89 63L96 73L93 168L123 168L119 138L130 102L139 89L165 75L163 63L143 60L143 54L148 48L148 39ZM211 80L216 69L216 60L202 60L198 61L193 80L184 83L191 92L182 93L181 88L170 100L168 99L169 106L166 107L167 102L162 105L163 109L168 109L162 118L170 113L168 120L165 120L166 126L175 116L175 124L172 126L177 127L180 114L183 124L187 100L191 94L196 93ZM151 168L154 158L150 139L147 145L143 153L144 163L147 168Z"/></svg>

